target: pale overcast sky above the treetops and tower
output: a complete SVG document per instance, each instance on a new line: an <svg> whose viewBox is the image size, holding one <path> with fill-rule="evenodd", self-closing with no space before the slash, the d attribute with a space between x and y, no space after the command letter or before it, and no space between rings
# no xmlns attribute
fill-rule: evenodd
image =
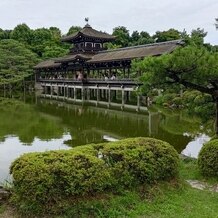
<svg viewBox="0 0 218 218"><path fill-rule="evenodd" d="M218 0L0 0L0 28L13 29L26 23L31 28L84 26L112 33L116 26L154 34L175 28L208 32L206 42L218 44L214 22Z"/></svg>

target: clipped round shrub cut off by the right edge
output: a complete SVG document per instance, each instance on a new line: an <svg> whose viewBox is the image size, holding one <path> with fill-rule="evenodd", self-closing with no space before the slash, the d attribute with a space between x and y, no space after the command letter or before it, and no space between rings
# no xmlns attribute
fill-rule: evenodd
<svg viewBox="0 0 218 218"><path fill-rule="evenodd" d="M198 166L204 176L218 178L218 139L203 145L198 156Z"/></svg>

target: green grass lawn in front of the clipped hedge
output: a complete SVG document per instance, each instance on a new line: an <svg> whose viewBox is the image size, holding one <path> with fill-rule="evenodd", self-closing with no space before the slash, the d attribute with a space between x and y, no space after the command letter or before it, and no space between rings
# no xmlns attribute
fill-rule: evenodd
<svg viewBox="0 0 218 218"><path fill-rule="evenodd" d="M69 209L61 217L155 217L216 218L218 193L200 191L186 185L169 184L151 188L147 193L126 191L108 201L93 202L83 209Z"/></svg>

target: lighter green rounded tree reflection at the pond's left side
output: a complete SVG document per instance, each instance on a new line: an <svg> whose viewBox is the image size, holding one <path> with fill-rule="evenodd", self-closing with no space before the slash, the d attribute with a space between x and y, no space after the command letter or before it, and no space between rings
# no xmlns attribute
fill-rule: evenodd
<svg viewBox="0 0 218 218"><path fill-rule="evenodd" d="M53 117L47 117L33 106L13 99L0 102L0 138L16 135L24 144L31 144L35 137L41 140L60 138L63 127Z"/></svg>

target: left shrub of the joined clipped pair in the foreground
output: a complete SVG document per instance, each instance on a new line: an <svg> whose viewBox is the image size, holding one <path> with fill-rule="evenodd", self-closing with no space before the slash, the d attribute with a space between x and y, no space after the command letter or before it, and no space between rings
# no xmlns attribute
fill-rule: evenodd
<svg viewBox="0 0 218 218"><path fill-rule="evenodd" d="M110 183L103 160L73 150L24 154L12 164L11 173L12 201L36 212L69 197L102 192Z"/></svg>

